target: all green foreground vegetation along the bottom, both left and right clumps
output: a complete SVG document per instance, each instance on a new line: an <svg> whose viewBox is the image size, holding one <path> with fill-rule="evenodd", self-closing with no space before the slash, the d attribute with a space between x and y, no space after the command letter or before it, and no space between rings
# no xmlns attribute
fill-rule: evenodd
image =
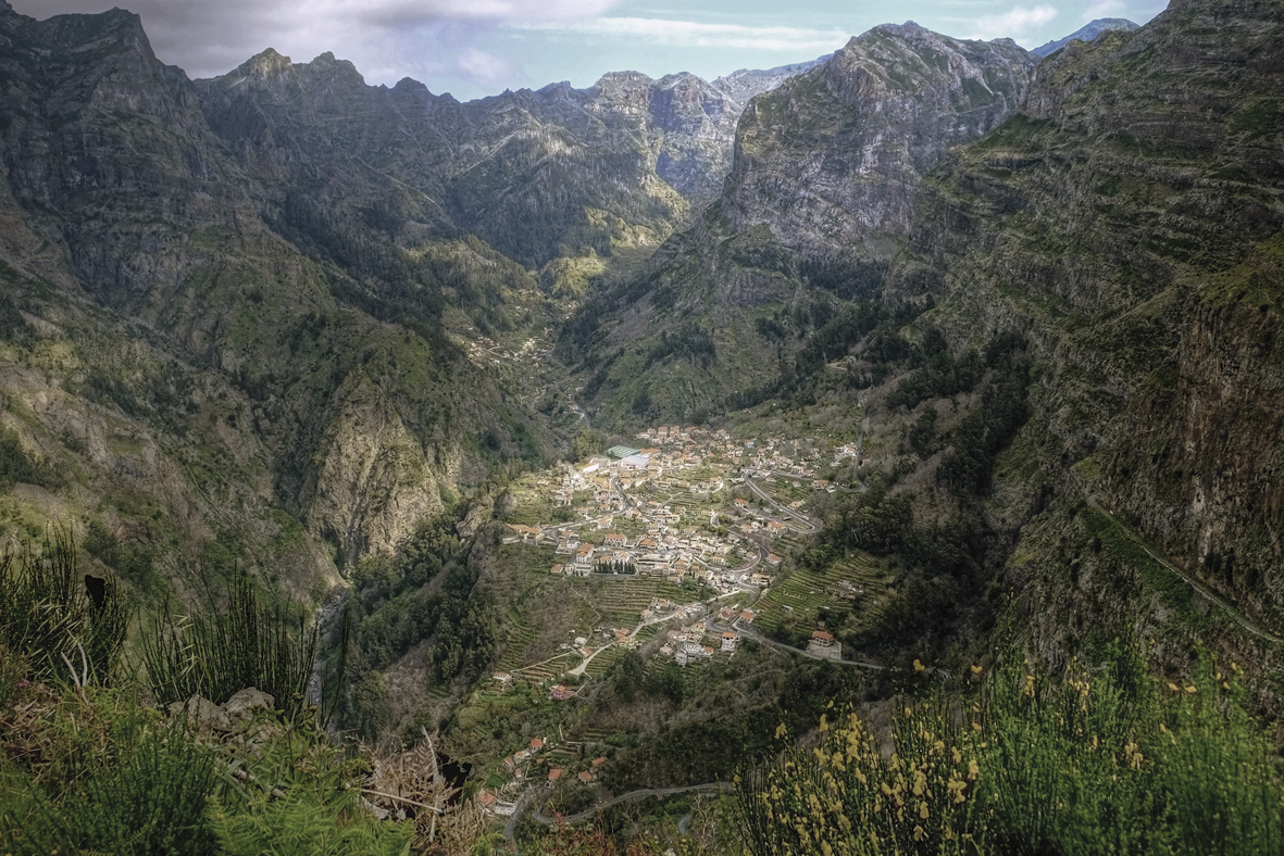
<svg viewBox="0 0 1284 856"><path fill-rule="evenodd" d="M325 733L297 689L311 674L309 635L267 628L284 628L288 608L268 610L252 586L234 585L231 608L154 625L163 643L145 643L136 669L119 589L82 589L76 554L69 539L54 539L0 560L6 853L484 853L501 844L470 801L426 773L430 744L392 761ZM218 644L220 634L243 644ZM290 698L209 728L194 705L166 714L149 698L181 701L187 689L173 681L189 672L214 705L252 681ZM605 812L588 830L528 834L523 852L677 844L755 856L1167 856L1271 853L1284 839L1284 762L1248 712L1235 665L1203 657L1193 676L1168 680L1129 648L1046 675L1009 655L995 674L975 666L954 683L958 693L940 694L926 669L898 681L886 729L854 712L853 688L829 685L815 730L796 710L774 746L764 716L741 723L752 728L738 735L710 732L723 752L734 743L759 753L720 809L697 811L696 832L679 837L664 823ZM399 773L380 785L389 770ZM362 797L392 791L404 820L376 820Z"/></svg>

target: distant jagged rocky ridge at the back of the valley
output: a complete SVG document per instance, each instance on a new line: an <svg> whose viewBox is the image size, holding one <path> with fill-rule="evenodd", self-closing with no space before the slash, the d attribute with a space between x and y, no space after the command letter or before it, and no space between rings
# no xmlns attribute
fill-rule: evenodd
<svg viewBox="0 0 1284 856"><path fill-rule="evenodd" d="M738 72L725 86L614 72L587 90L552 83L461 104L410 78L366 86L333 54L290 63L267 50L200 86L220 133L270 164L257 168L360 159L541 267L564 252L610 253L594 212L652 244L684 225L722 187L745 101L792 68Z"/></svg>

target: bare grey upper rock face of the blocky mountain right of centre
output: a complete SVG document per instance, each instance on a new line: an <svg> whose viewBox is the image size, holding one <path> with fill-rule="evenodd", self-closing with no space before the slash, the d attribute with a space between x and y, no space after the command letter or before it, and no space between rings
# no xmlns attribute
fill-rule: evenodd
<svg viewBox="0 0 1284 856"><path fill-rule="evenodd" d="M791 248L905 235L921 177L1013 112L1035 62L1011 40L876 27L750 103L722 210Z"/></svg>

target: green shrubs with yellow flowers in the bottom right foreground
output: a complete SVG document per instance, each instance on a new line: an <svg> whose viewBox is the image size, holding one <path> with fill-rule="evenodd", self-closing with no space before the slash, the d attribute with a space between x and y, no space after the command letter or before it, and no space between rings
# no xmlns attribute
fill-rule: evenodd
<svg viewBox="0 0 1284 856"><path fill-rule="evenodd" d="M1284 769L1235 678L1206 660L1157 681L1131 652L1032 672L1000 669L966 717L904 706L891 755L854 714L822 719L817 748L745 773L750 852L1279 852Z"/></svg>

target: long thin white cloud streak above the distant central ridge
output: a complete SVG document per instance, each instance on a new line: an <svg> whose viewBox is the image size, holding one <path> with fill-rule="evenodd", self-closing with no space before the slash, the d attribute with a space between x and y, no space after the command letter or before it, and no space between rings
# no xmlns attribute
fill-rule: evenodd
<svg viewBox="0 0 1284 856"><path fill-rule="evenodd" d="M841 30L707 24L666 18L594 18L588 21L514 23L519 30L565 32L609 39L645 40L670 47L736 47L750 50L823 51L841 47Z"/></svg>

